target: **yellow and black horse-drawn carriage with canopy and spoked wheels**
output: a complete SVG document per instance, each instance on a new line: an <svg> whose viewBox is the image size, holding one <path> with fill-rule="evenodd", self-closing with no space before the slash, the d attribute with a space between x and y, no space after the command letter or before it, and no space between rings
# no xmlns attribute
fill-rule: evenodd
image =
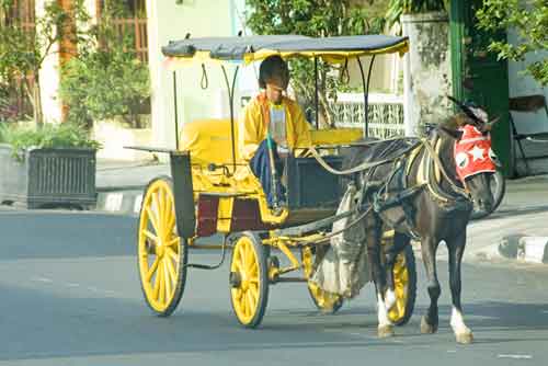
<svg viewBox="0 0 548 366"><path fill-rule="evenodd" d="M407 49L407 38L380 35L186 38L163 47L165 64L173 68L174 78L179 67L189 64L203 65L204 69L206 65L220 67L228 89L230 118L190 122L179 131L174 83L178 149L134 147L165 152L171 164L171 176L155 178L146 187L138 222L140 283L153 313L168 317L175 310L189 279L189 268L218 268L227 254L230 256L228 290L233 312L243 327L261 323L269 287L273 284L306 284L313 304L326 312L334 312L342 306L342 295L328 293L309 279L333 236L333 224L344 216L336 214L345 191L344 179L328 172L312 157L289 155L285 161L287 207L275 214L269 208L260 181L240 159L236 147L238 124L233 100L238 69L270 55L285 59L307 57L316 66L320 59L340 65L356 59L367 106L375 56L403 54ZM362 56L373 58L367 77ZM231 82L229 70L233 70ZM317 70L316 67L316 80ZM365 121L365 128L356 129L319 129L317 123L311 128L312 144L322 160L340 169L342 147L359 144L356 141L367 131L367 113ZM197 240L213 235L221 235L220 244ZM387 230L383 238L392 240L393 231ZM193 263L192 252L198 249L219 251L220 263ZM403 324L413 311L415 298L416 273L410 245L404 245L398 254L393 276L396 302L389 309L389 318L396 324Z"/></svg>

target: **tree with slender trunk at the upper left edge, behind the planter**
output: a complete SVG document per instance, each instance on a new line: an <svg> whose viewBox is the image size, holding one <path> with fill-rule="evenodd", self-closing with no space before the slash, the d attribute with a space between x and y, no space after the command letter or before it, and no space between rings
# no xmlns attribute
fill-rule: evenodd
<svg viewBox="0 0 548 366"><path fill-rule="evenodd" d="M36 32L25 32L16 19L10 19L13 0L0 0L0 78L21 80L33 107L34 121L43 124L39 71L44 60L57 53L55 45L61 39L77 42L78 33L72 24L87 22L83 0L76 0L70 11L65 11L57 1L45 4L44 14L36 18ZM73 31L73 32L72 32Z"/></svg>

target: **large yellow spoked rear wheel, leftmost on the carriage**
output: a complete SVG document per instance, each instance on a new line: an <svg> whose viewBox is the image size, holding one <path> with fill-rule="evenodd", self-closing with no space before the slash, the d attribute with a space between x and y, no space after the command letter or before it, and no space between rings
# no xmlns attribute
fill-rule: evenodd
<svg viewBox="0 0 548 366"><path fill-rule="evenodd" d="M145 300L160 317L175 310L186 279L187 245L178 236L174 207L171 179L151 181L142 197L137 251Z"/></svg>

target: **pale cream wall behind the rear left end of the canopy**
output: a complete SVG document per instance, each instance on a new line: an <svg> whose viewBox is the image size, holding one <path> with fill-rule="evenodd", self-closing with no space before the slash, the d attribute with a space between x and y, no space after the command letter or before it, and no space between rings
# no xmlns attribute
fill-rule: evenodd
<svg viewBox="0 0 548 366"><path fill-rule="evenodd" d="M164 66L161 47L170 41L184 38L186 33L191 33L191 37L235 35L232 12L232 1L184 0L182 4L175 4L174 0L147 0L155 145L175 147L173 72ZM226 89L225 80L219 66L207 66L206 70L207 90L201 89L203 72L199 65L178 71L180 127L186 122L218 114L215 102Z"/></svg>

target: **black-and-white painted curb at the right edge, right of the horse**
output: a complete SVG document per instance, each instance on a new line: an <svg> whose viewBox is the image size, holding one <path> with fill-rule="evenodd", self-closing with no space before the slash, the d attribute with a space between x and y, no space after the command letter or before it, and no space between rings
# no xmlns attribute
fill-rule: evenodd
<svg viewBox="0 0 548 366"><path fill-rule="evenodd" d="M512 235L502 238L499 254L527 263L548 264L548 237Z"/></svg>

